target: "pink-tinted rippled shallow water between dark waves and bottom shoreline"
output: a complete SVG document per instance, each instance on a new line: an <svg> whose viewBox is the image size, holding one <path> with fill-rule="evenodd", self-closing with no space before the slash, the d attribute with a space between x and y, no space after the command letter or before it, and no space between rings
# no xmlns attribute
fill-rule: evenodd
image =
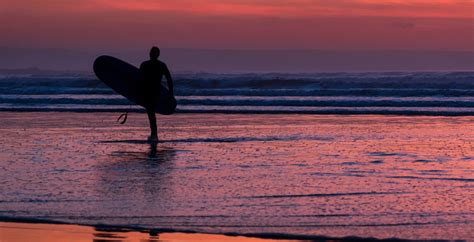
<svg viewBox="0 0 474 242"><path fill-rule="evenodd" d="M2 113L0 216L474 239L474 118Z"/></svg>

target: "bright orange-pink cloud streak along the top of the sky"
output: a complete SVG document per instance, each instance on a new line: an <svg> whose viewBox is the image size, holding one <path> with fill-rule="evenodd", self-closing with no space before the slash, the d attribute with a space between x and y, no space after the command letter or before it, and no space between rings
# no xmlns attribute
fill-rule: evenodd
<svg viewBox="0 0 474 242"><path fill-rule="evenodd" d="M3 11L150 11L209 16L473 18L472 0L0 0ZM1 12L1 10L0 10Z"/></svg>

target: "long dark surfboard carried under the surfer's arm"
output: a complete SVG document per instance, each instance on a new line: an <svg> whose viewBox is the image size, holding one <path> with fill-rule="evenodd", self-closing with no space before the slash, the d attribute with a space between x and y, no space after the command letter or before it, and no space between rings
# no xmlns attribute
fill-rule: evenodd
<svg viewBox="0 0 474 242"><path fill-rule="evenodd" d="M94 61L94 73L107 86L131 102L145 107L144 90L141 88L142 74L140 70L112 56L99 56ZM176 110L176 99L161 83L161 93L155 97L155 112L163 115L173 114Z"/></svg>

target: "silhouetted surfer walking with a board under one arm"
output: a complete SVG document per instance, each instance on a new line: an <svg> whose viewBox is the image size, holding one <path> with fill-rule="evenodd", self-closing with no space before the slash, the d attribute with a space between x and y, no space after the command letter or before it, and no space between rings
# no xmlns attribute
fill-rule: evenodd
<svg viewBox="0 0 474 242"><path fill-rule="evenodd" d="M148 114L148 120L150 121L150 136L148 141L156 142L158 141L158 130L156 126L156 116L155 116L155 98L157 95L160 95L161 89L161 79L163 75L166 77L168 82L168 89L171 95L173 93L173 79L171 78L171 73L168 70L166 64L158 60L160 56L160 49L156 46L153 46L150 50L150 59L144 61L140 65L140 71L143 74L143 87L145 90L145 100L146 100L146 112Z"/></svg>

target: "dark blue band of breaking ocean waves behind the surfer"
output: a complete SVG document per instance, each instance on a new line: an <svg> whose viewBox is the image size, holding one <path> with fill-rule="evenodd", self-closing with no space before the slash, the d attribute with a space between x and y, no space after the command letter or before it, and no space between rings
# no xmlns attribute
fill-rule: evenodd
<svg viewBox="0 0 474 242"><path fill-rule="evenodd" d="M473 115L474 72L175 75L181 113ZM88 74L2 75L1 111L140 112Z"/></svg>

